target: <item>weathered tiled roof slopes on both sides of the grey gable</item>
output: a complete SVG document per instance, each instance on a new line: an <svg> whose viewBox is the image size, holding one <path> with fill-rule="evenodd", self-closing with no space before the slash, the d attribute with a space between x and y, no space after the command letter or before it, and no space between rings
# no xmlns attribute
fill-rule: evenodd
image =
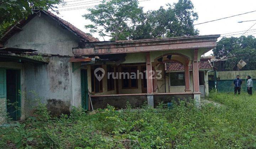
<svg viewBox="0 0 256 149"><path fill-rule="evenodd" d="M41 11L44 12L46 15L48 15L49 17L53 18L54 20L58 21L60 23L60 25L62 25L63 27L65 27L66 29L68 29L69 31L71 31L72 33L74 33L75 35L77 35L80 39L86 41L86 42L98 42L99 40L82 32L80 29L76 28L75 26L73 26L72 24L70 24L69 22L59 18L58 16L54 15L52 12L50 11ZM16 22L13 26L10 26L9 28L6 29L6 31L4 32L3 36L0 38L0 43L4 43L6 40L8 40L12 35L14 35L16 32L22 31L22 27L29 22L34 16L36 16L36 14L34 13L33 15L28 16L27 19L23 19L19 22Z"/></svg>

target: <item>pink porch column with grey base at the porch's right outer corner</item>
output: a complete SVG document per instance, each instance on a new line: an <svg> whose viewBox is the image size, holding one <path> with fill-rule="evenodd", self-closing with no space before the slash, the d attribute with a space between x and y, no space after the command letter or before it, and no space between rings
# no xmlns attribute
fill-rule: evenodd
<svg viewBox="0 0 256 149"><path fill-rule="evenodd" d="M194 100L196 101L196 106L201 107L201 97L199 93L199 72L198 72L198 49L194 49L194 59L193 59L193 87L194 87Z"/></svg>

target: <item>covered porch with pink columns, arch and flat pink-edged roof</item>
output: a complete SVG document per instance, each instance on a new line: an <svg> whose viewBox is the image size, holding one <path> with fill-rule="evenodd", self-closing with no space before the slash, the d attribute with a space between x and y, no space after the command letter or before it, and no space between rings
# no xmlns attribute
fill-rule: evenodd
<svg viewBox="0 0 256 149"><path fill-rule="evenodd" d="M80 60L71 62L81 71L81 104L85 109L90 109L91 104L94 109L104 108L107 104L120 109L127 101L135 108L144 103L156 107L161 101L193 98L200 106L198 61L201 55L216 46L218 37L97 42L75 48L73 53ZM100 61L85 60L88 58ZM170 91L165 72L168 61L184 65L184 92ZM193 75L190 75L190 65ZM88 91L92 94L92 103Z"/></svg>

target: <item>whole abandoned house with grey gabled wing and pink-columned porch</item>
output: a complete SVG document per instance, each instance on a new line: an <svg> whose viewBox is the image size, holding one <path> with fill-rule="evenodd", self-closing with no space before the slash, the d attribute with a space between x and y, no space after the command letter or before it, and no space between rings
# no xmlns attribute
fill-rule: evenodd
<svg viewBox="0 0 256 149"><path fill-rule="evenodd" d="M31 115L36 102L50 104L52 99L68 109L82 106L88 110L107 104L124 108L126 101L132 107L145 102L156 107L174 98L194 98L199 105L199 77L211 69L201 69L200 58L216 46L218 37L100 42L52 13L40 11L11 26L0 38L1 110L21 120ZM174 61L184 66L179 90L169 87L176 79L170 77L169 62ZM119 72L139 72L140 77L117 78ZM12 103L20 110L15 111Z"/></svg>

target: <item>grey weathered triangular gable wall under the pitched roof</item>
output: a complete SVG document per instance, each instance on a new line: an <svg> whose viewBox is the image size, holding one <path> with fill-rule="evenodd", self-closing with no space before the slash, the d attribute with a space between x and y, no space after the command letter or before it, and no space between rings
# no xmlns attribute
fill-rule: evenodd
<svg viewBox="0 0 256 149"><path fill-rule="evenodd" d="M5 47L17 47L38 50L38 53L73 55L72 48L78 46L79 39L63 28L58 22L41 13L4 44Z"/></svg>

